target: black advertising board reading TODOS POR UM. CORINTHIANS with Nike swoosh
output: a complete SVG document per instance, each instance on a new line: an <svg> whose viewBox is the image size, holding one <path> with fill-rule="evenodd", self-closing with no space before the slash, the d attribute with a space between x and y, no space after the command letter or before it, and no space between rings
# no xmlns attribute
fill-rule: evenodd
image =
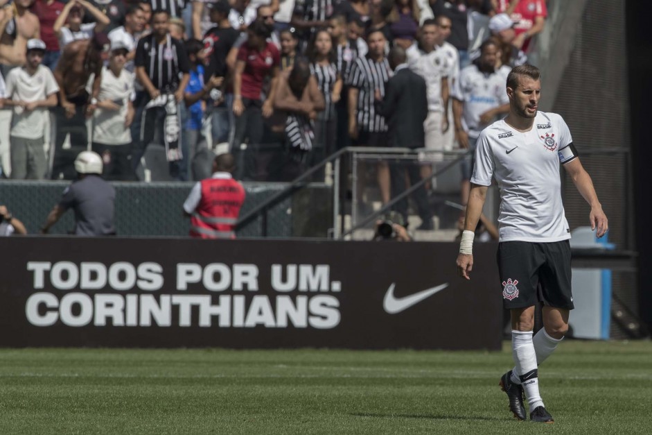
<svg viewBox="0 0 652 435"><path fill-rule="evenodd" d="M495 244L0 241L0 346L500 349Z"/></svg>

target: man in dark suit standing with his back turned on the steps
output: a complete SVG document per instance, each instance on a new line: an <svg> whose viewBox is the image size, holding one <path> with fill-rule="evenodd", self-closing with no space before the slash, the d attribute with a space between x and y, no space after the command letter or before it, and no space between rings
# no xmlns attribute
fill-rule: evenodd
<svg viewBox="0 0 652 435"><path fill-rule="evenodd" d="M389 67L394 76L387 82L385 99L378 108L389 125L387 132L389 146L399 148L423 148L425 134L423 121L428 117L428 100L426 99L425 80L407 68L405 50L399 46L389 51ZM412 185L421 181L416 162L403 160L390 165L391 194L398 196L405 191L405 172ZM421 216L418 230L432 230L432 210L428 204L428 194L421 186L414 191L414 200ZM398 201L395 210L403 215L407 222L407 198Z"/></svg>

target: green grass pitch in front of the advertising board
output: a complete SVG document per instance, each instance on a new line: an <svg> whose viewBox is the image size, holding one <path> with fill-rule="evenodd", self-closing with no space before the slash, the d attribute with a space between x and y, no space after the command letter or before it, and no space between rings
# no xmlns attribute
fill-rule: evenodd
<svg viewBox="0 0 652 435"><path fill-rule="evenodd" d="M554 425L518 422L502 352L0 350L1 434L651 434L652 343L567 340Z"/></svg>

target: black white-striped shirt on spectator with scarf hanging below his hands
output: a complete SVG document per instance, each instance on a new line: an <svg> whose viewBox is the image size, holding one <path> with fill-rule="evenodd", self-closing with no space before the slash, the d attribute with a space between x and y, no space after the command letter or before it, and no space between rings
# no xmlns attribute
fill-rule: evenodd
<svg viewBox="0 0 652 435"><path fill-rule="evenodd" d="M161 92L175 92L179 87L179 73L190 71L190 62L184 44L170 35L162 44L156 42L155 35L139 40L136 46L134 64L145 67L147 75Z"/></svg>

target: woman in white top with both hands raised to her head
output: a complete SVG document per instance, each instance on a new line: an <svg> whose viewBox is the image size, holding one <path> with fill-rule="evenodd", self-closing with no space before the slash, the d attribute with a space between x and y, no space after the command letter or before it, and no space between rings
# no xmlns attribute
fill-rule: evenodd
<svg viewBox="0 0 652 435"><path fill-rule="evenodd" d="M85 10L88 10L96 22L82 24ZM86 0L71 0L66 3L61 14L54 22L54 34L59 39L63 50L64 46L76 40L88 40L93 33L103 31L111 22L101 10L91 5Z"/></svg>

